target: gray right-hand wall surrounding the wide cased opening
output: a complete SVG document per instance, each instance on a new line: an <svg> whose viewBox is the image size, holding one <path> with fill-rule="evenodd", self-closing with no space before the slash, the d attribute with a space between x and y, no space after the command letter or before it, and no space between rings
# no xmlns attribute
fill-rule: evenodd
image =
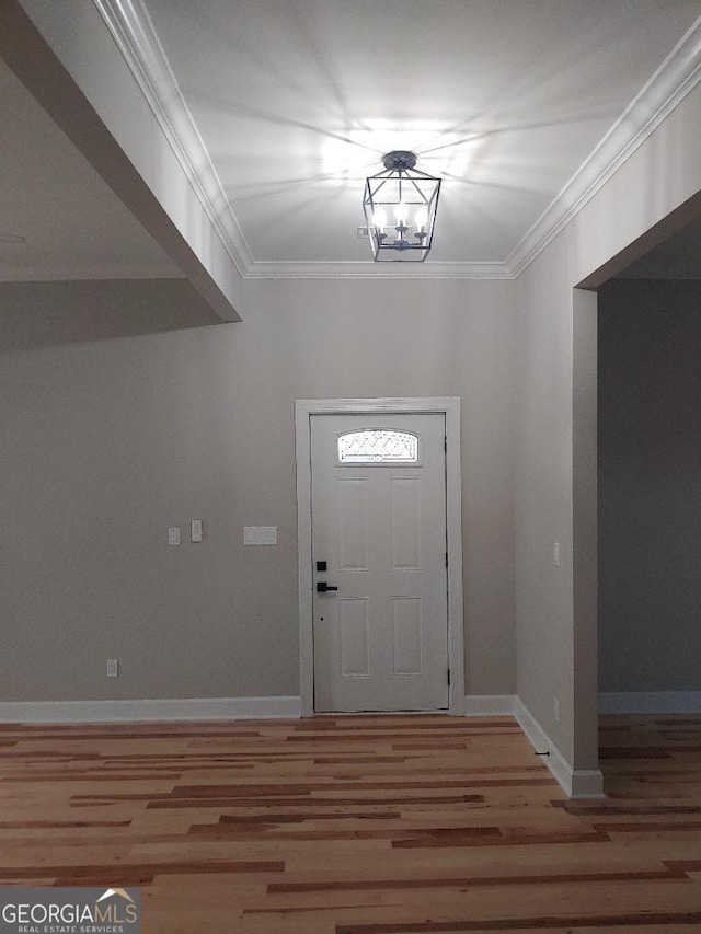
<svg viewBox="0 0 701 934"><path fill-rule="evenodd" d="M598 180L516 282L517 694L567 765L584 773L598 765L596 588L593 583L575 600L575 586L589 573L596 549L595 523L583 522L579 501L594 501L595 478L585 483L582 459L590 463L596 450L595 434L585 450L587 426L596 419L596 394L585 384L596 372L596 347L593 326L576 321L587 312L575 296L578 286L598 287L654 245L651 232L671 232L670 215L685 214L677 227L690 220L686 211L698 209L701 188L700 119L697 84L605 182ZM560 568L553 541L562 545Z"/></svg>

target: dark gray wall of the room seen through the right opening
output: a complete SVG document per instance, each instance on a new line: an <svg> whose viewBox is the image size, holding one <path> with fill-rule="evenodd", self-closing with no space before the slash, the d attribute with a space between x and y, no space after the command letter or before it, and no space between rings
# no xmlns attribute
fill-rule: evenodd
<svg viewBox="0 0 701 934"><path fill-rule="evenodd" d="M701 689L701 282L599 292L599 688Z"/></svg>

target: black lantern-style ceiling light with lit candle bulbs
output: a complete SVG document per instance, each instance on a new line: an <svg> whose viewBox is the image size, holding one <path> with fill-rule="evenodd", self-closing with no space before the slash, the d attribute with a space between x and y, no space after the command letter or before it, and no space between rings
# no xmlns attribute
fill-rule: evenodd
<svg viewBox="0 0 701 934"><path fill-rule="evenodd" d="M434 235L440 178L415 169L413 152L383 157L384 171L366 180L363 207L372 258L422 263Z"/></svg>

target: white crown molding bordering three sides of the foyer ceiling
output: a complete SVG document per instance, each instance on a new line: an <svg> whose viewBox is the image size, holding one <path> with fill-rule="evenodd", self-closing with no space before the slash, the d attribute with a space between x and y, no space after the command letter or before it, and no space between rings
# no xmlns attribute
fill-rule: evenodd
<svg viewBox="0 0 701 934"><path fill-rule="evenodd" d="M513 279L558 237L701 79L701 16L502 262L255 261L142 0L93 0L243 278Z"/></svg>

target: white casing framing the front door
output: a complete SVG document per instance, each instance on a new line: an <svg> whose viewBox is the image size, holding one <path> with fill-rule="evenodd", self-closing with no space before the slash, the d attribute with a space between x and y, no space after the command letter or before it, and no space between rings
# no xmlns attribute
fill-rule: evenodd
<svg viewBox="0 0 701 934"><path fill-rule="evenodd" d="M460 399L301 399L295 402L297 545L299 576L299 693L301 715L314 715L313 579L311 535L311 416L413 415L446 417L446 523L448 547L448 713L464 714L464 618L462 602L462 493Z"/></svg>

